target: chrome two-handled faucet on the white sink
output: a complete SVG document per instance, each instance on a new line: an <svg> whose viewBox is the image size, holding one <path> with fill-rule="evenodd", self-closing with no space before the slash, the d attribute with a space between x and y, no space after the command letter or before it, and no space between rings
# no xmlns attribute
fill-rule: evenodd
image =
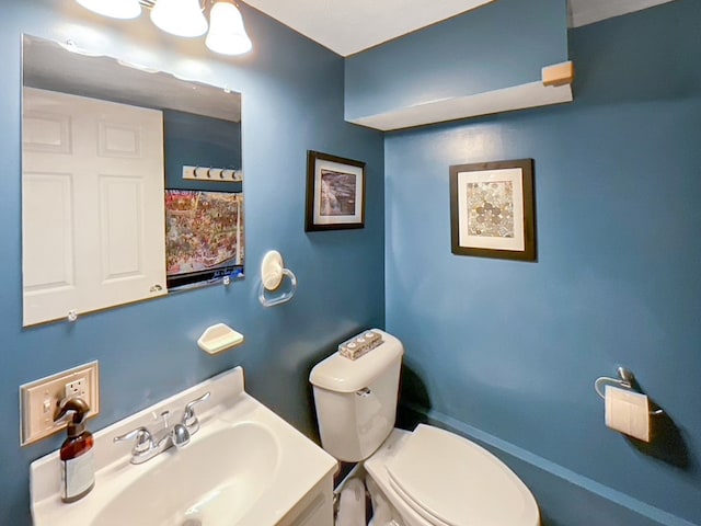
<svg viewBox="0 0 701 526"><path fill-rule="evenodd" d="M168 423L170 411L163 411L161 413L163 425L158 432L151 433L148 428L139 426L124 435L115 436L113 442L134 439L131 464L143 464L170 449L171 446L180 449L186 446L189 443L189 437L199 431L199 421L194 410L195 404L204 402L208 398L209 391L188 402L185 405L181 421L172 426Z"/></svg>

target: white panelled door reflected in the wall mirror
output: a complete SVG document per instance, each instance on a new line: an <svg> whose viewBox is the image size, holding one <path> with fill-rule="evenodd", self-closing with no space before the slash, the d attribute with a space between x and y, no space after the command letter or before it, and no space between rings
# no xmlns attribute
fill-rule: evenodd
<svg viewBox="0 0 701 526"><path fill-rule="evenodd" d="M24 88L24 325L166 293L163 117Z"/></svg>

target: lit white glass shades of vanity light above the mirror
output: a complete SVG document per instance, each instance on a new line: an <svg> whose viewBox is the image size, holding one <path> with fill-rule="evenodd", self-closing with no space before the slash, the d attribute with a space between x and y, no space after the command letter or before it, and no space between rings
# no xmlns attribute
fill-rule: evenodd
<svg viewBox="0 0 701 526"><path fill-rule="evenodd" d="M176 36L196 37L209 28L205 44L222 55L242 55L253 47L234 0L211 1L209 24L200 0L76 0L83 8L114 19L135 19L141 7L151 10L151 22Z"/></svg>

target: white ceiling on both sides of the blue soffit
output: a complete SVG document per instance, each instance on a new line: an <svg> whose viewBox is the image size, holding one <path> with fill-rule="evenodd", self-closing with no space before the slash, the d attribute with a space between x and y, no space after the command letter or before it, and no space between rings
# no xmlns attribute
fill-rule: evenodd
<svg viewBox="0 0 701 526"><path fill-rule="evenodd" d="M498 0L245 0L344 57L491 1ZM671 0L567 1L570 25L579 26Z"/></svg>

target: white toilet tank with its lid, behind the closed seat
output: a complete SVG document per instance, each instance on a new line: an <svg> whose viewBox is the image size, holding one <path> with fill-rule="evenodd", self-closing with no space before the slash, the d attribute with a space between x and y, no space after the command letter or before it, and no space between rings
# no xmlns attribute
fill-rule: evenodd
<svg viewBox="0 0 701 526"><path fill-rule="evenodd" d="M372 329L382 343L357 359L337 352L309 375L322 447L336 459L357 462L380 447L394 427L404 348Z"/></svg>

